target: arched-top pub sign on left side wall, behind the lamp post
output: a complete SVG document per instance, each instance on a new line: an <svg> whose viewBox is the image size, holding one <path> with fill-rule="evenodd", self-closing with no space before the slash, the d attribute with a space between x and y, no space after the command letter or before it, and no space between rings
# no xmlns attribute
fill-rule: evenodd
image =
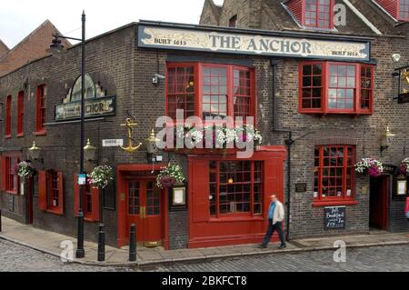
<svg viewBox="0 0 409 290"><path fill-rule="evenodd" d="M66 95L63 105L55 106L55 121L69 121L81 117L81 76ZM106 96L101 86L85 75L85 118L115 115L115 95Z"/></svg>

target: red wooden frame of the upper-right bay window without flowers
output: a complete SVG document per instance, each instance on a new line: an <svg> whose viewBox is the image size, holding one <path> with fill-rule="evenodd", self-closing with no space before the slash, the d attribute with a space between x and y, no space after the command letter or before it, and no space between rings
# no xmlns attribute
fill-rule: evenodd
<svg viewBox="0 0 409 290"><path fill-rule="evenodd" d="M304 66L321 65L321 75L304 74ZM354 66L354 87L347 88L347 84L334 86L331 84L330 69L333 65ZM363 76L364 72L364 76ZM314 84L314 77L321 77L321 85ZM348 75L345 75L348 79ZM365 85L368 84L369 86ZM322 88L321 107L313 107L313 91ZM353 108L331 108L329 105L330 89L354 89ZM310 91L310 93L308 93ZM346 93L345 93L346 94ZM317 95L317 94L315 94ZM349 115L372 115L374 112L374 65L340 63L340 62L301 62L299 64L299 102L298 112L300 114L349 114ZM369 98L369 99L368 99ZM310 102L307 102L310 100ZM369 106L367 106L369 105Z"/></svg>

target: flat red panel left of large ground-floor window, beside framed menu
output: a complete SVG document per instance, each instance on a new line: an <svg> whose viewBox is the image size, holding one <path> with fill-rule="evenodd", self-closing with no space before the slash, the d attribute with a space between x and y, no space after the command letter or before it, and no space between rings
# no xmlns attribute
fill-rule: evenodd
<svg viewBox="0 0 409 290"><path fill-rule="evenodd" d="M205 222L209 212L209 160L193 160L189 165L189 183L192 185L192 214L194 222Z"/></svg>

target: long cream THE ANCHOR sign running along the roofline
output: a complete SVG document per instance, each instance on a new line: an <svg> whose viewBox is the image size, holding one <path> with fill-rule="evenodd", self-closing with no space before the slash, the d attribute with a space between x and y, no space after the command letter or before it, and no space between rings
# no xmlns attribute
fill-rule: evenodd
<svg viewBox="0 0 409 290"><path fill-rule="evenodd" d="M216 28L214 28L216 30ZM217 29L220 31L221 29ZM306 37L306 36L305 36ZM138 46L172 50L369 61L370 42L260 32L226 33L208 27L139 24Z"/></svg>

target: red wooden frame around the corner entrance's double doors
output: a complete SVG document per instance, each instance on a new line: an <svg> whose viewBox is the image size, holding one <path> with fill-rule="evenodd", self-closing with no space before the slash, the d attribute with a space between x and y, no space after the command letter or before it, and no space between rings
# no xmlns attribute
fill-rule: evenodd
<svg viewBox="0 0 409 290"><path fill-rule="evenodd" d="M127 208L126 208L126 188L129 178L126 177L131 172L146 172L150 173L152 170L160 171L166 165L117 165L116 166L116 203L117 203L117 245L122 247L129 245L129 237L126 228ZM151 175L155 177L154 174ZM144 177L144 176L142 176ZM164 196L163 199L163 213L162 213L162 225L165 249L169 249L169 230L168 230L168 197Z"/></svg>

